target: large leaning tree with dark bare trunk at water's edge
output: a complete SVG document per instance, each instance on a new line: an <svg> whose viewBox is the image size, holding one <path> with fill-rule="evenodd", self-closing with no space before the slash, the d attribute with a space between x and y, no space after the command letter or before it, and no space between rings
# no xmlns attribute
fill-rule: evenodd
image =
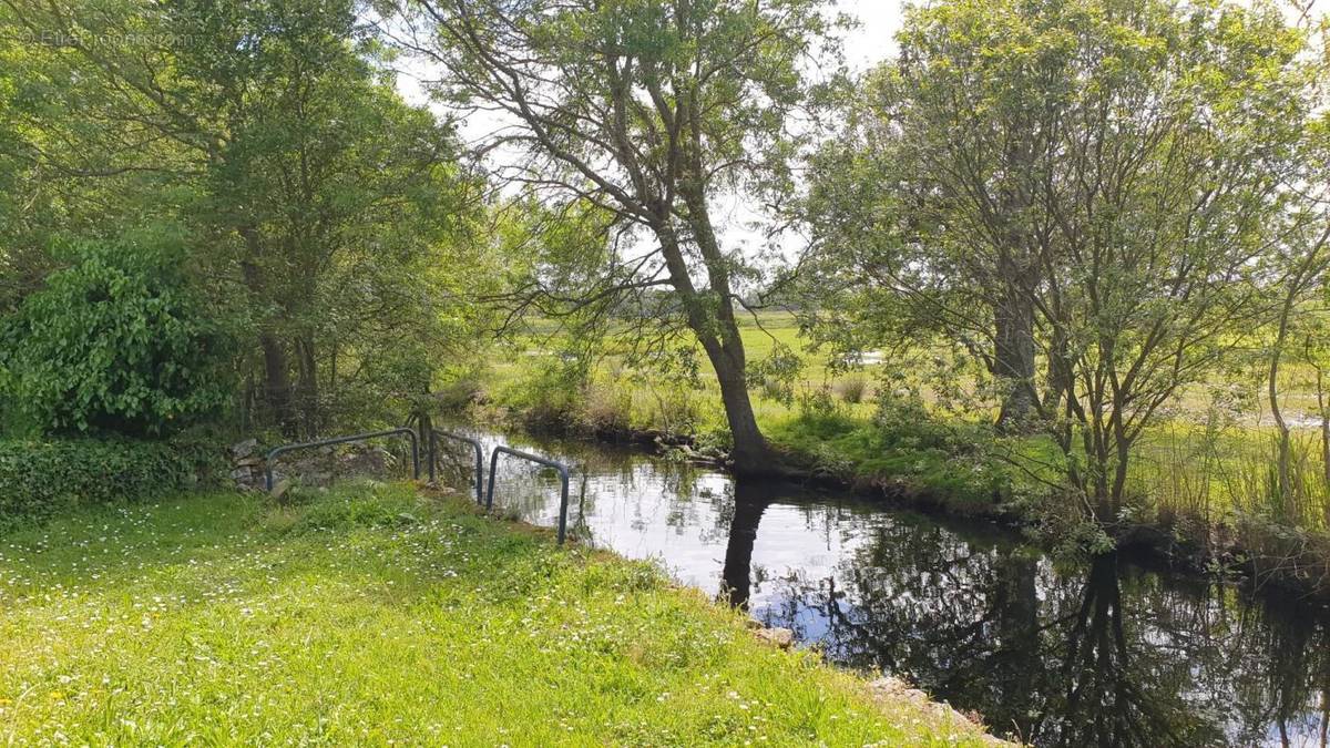
<svg viewBox="0 0 1330 748"><path fill-rule="evenodd" d="M716 370L738 472L774 462L735 318L754 268L724 241L717 206L789 188L810 100L805 71L830 45L823 5L419 0L400 21L419 31L402 33L406 44L443 71L442 96L501 122L487 148L504 153L508 184L545 209L581 204L569 212L608 217L587 248L597 268L549 269L523 293L682 319Z"/></svg>

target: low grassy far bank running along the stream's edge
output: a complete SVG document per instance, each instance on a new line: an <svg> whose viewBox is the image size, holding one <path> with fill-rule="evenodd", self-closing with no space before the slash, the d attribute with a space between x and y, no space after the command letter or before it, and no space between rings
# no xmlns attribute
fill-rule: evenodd
<svg viewBox="0 0 1330 748"><path fill-rule="evenodd" d="M636 423L629 413L606 418L593 403L608 398L596 386L565 407L529 407L496 390L467 406L467 417L492 426L637 443L682 459L725 466L725 445L701 434ZM1299 598L1330 600L1330 534L1290 526L1254 512L1214 507L1152 507L1109 527L1084 520L1059 495L1052 475L1013 466L1009 443L918 415L882 418L830 410L775 418L767 438L789 461L789 478L834 486L894 504L979 518L1019 530L1055 552L1116 547L1152 564L1193 575L1221 574ZM1037 450L1036 442L1016 449ZM1037 462L1037 458L1035 458ZM1253 470L1256 467L1253 466ZM1260 476L1253 476L1258 480Z"/></svg>

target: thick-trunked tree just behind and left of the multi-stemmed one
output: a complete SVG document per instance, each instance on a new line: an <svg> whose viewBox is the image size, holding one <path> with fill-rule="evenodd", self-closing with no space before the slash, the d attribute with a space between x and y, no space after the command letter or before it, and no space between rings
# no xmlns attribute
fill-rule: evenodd
<svg viewBox="0 0 1330 748"><path fill-rule="evenodd" d="M1036 201L1065 106L1064 20L1021 3L911 8L898 57L819 154L807 208L831 258L818 282L859 295L850 313L888 338L962 341L1001 387L1004 427L1039 406L1036 297L1056 249Z"/></svg>

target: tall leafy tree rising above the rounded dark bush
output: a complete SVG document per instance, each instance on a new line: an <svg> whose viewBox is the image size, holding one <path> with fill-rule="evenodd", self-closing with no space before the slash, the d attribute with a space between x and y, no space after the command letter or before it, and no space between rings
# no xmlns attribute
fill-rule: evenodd
<svg viewBox="0 0 1330 748"><path fill-rule="evenodd" d="M451 125L392 91L350 0L3 5L44 69L74 71L51 85L68 106L16 152L80 185L152 176L140 201L188 228L214 293L243 299L283 430L326 427L329 390L376 337L447 335L424 281L469 242L475 181Z"/></svg>

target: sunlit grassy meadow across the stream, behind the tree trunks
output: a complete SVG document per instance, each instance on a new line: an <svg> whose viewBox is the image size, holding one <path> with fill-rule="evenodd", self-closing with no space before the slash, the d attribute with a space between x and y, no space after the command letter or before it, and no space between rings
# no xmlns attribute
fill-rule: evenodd
<svg viewBox="0 0 1330 748"><path fill-rule="evenodd" d="M549 353L559 345L553 330L547 325L527 341L524 355L495 362L481 374L477 386L499 410L544 425L685 434L724 447L724 409L705 357L692 382L662 375L650 363L629 363L610 335L579 385L551 375L567 362ZM990 427L995 407L982 398L968 410L943 402L915 358L876 353L863 365L833 367L827 351L801 334L790 313L742 317L741 330L753 362L777 346L801 359L783 389L761 382L751 389L763 431L797 461L962 514L1037 522L1065 508L1052 506L1061 459L1052 441L1037 431L995 434ZM950 355L943 346L926 353ZM1281 407L1294 425L1289 495L1271 488L1275 430L1258 377L1254 369L1234 370L1192 386L1144 434L1132 458L1127 524L1213 554L1232 551L1234 538L1253 555L1271 558L1326 547L1330 478L1319 466L1314 371L1290 361L1281 377ZM958 389L974 394L968 381ZM1278 540L1281 528L1291 535ZM1057 532L1065 535L1064 530L1059 526Z"/></svg>

